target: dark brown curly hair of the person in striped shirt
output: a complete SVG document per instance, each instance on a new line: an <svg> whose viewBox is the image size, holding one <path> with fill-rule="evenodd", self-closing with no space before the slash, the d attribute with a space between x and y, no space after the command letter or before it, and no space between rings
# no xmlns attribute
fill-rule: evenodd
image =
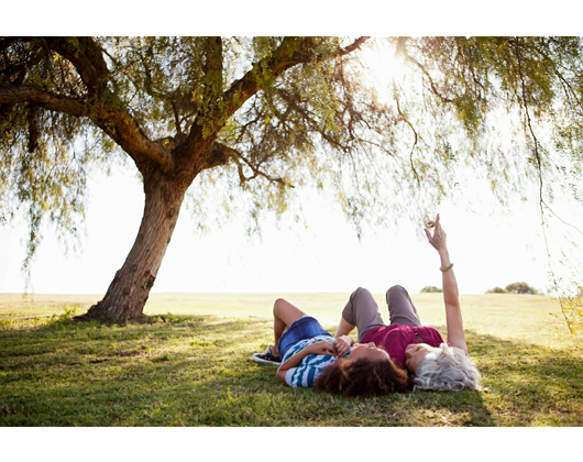
<svg viewBox="0 0 583 462"><path fill-rule="evenodd" d="M315 384L317 387L343 396L375 396L410 388L409 374L399 364L388 361L342 358L326 367Z"/></svg>

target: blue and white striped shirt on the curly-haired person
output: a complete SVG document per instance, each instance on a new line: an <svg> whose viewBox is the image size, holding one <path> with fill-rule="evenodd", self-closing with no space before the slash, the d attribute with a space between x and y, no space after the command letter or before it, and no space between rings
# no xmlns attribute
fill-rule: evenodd
<svg viewBox="0 0 583 462"><path fill-rule="evenodd" d="M282 359L282 364L289 360L292 356L299 353L306 346L316 342L334 342L334 338L330 336L318 336L312 339L300 340L295 345L290 346L285 356ZM351 349L352 350L352 349ZM346 353L346 356L350 354ZM285 382L293 386L298 387L310 387L314 386L316 380L320 376L322 371L336 361L336 356L329 356L324 354L308 354L301 360L297 367L292 367L285 374Z"/></svg>

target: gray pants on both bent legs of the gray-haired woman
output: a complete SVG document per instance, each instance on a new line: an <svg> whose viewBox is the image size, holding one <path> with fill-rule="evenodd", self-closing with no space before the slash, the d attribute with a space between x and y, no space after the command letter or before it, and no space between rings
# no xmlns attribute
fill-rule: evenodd
<svg viewBox="0 0 583 462"><path fill-rule="evenodd" d="M393 286L386 293L388 316L392 324L421 326L417 309L409 293L402 286ZM342 318L359 329L359 342L373 328L386 326L372 294L359 287L350 296L342 311Z"/></svg>

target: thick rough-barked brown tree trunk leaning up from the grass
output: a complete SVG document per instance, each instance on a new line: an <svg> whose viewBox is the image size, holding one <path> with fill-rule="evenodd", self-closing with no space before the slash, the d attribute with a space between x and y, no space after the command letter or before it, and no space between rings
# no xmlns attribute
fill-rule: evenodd
<svg viewBox="0 0 583 462"><path fill-rule="evenodd" d="M144 177L145 206L138 238L105 298L79 320L139 321L172 239L186 188L161 174Z"/></svg>

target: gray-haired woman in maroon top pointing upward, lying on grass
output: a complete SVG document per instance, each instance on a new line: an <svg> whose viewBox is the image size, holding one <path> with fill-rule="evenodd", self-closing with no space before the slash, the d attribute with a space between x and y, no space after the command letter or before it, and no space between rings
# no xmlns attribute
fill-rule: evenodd
<svg viewBox="0 0 583 462"><path fill-rule="evenodd" d="M383 322L371 293L356 289L342 311L336 338L344 340L341 344L348 351L354 341L346 336L356 327L360 343L370 351L370 361L388 361L396 367L407 367L417 389L480 389L480 373L468 358L458 283L446 232L439 220L438 215L436 221L429 222L433 234L427 229L425 231L441 261L448 342L432 327L421 326L409 294L400 286L392 287L386 294L389 326ZM328 378L322 376L320 380Z"/></svg>

